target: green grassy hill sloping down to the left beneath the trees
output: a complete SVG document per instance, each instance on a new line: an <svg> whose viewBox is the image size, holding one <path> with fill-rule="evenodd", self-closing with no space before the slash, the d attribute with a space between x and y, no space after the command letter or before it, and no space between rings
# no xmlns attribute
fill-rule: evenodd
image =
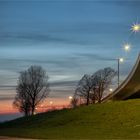
<svg viewBox="0 0 140 140"><path fill-rule="evenodd" d="M140 139L140 100L38 114L0 124L0 135L41 139Z"/></svg>

